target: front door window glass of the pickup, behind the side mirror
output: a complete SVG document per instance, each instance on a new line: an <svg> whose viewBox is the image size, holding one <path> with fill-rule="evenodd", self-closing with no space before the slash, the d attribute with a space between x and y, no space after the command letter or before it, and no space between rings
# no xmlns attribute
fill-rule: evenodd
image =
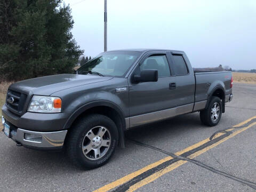
<svg viewBox="0 0 256 192"><path fill-rule="evenodd" d="M158 77L169 77L170 68L165 55L151 55L140 65L140 70L157 69Z"/></svg>

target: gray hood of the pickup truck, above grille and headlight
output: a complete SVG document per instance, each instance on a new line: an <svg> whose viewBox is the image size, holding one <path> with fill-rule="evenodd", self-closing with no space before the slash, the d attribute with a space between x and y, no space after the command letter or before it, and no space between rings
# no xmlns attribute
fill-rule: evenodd
<svg viewBox="0 0 256 192"><path fill-rule="evenodd" d="M51 95L54 92L68 89L70 87L108 81L113 77L101 77L98 75L74 75L60 74L27 79L12 84L9 88L21 92L38 95Z"/></svg>

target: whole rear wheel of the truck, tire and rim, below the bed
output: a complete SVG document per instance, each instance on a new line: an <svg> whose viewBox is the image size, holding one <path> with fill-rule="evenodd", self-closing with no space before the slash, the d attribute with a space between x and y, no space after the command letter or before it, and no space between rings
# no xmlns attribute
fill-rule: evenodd
<svg viewBox="0 0 256 192"><path fill-rule="evenodd" d="M207 126L215 126L222 115L222 102L218 97L212 97L207 108L200 111L201 122Z"/></svg>

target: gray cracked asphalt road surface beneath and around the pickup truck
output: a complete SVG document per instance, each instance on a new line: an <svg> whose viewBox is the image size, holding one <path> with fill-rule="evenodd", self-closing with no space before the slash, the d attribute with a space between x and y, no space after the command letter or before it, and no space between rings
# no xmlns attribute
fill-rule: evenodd
<svg viewBox="0 0 256 192"><path fill-rule="evenodd" d="M188 151L214 132L256 116L256 85L234 84L233 93L219 125L206 127L194 113L130 130L126 148L118 148L108 164L90 171L77 169L63 153L17 147L0 132L0 191L104 191L102 187L109 183L110 191L129 187L137 191L255 191L256 117L239 129L217 135L217 140L222 139L202 150L184 155L188 162L180 159L181 154L173 159L169 154ZM131 175L163 158L171 160L168 165L161 163L158 172ZM128 174L130 179L124 181Z"/></svg>

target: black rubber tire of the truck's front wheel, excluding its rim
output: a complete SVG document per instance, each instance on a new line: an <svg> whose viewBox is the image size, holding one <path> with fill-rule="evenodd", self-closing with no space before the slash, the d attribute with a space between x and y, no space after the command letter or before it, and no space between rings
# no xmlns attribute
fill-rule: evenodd
<svg viewBox="0 0 256 192"><path fill-rule="evenodd" d="M94 129L93 127L98 126L107 128L107 133L110 134L111 139L109 140L111 140L111 142L105 152L105 155L103 155L102 157L99 156L98 159L89 159L90 157L93 158L93 155L90 157L89 155L85 155L82 147L84 146L84 140L86 138L86 135L89 135L88 132L91 132L91 130ZM107 116L100 114L86 116L80 119L73 127L70 127L70 129L71 131L68 133L68 140L66 142L67 153L71 162L73 162L78 167L82 167L83 169L94 169L96 167L106 164L110 157L114 154L115 148L118 143L118 131L116 124ZM93 145L92 141L89 140L89 143L91 148L91 146ZM105 150L106 148L103 149ZM94 149L91 149L91 151L91 153L95 155Z"/></svg>

